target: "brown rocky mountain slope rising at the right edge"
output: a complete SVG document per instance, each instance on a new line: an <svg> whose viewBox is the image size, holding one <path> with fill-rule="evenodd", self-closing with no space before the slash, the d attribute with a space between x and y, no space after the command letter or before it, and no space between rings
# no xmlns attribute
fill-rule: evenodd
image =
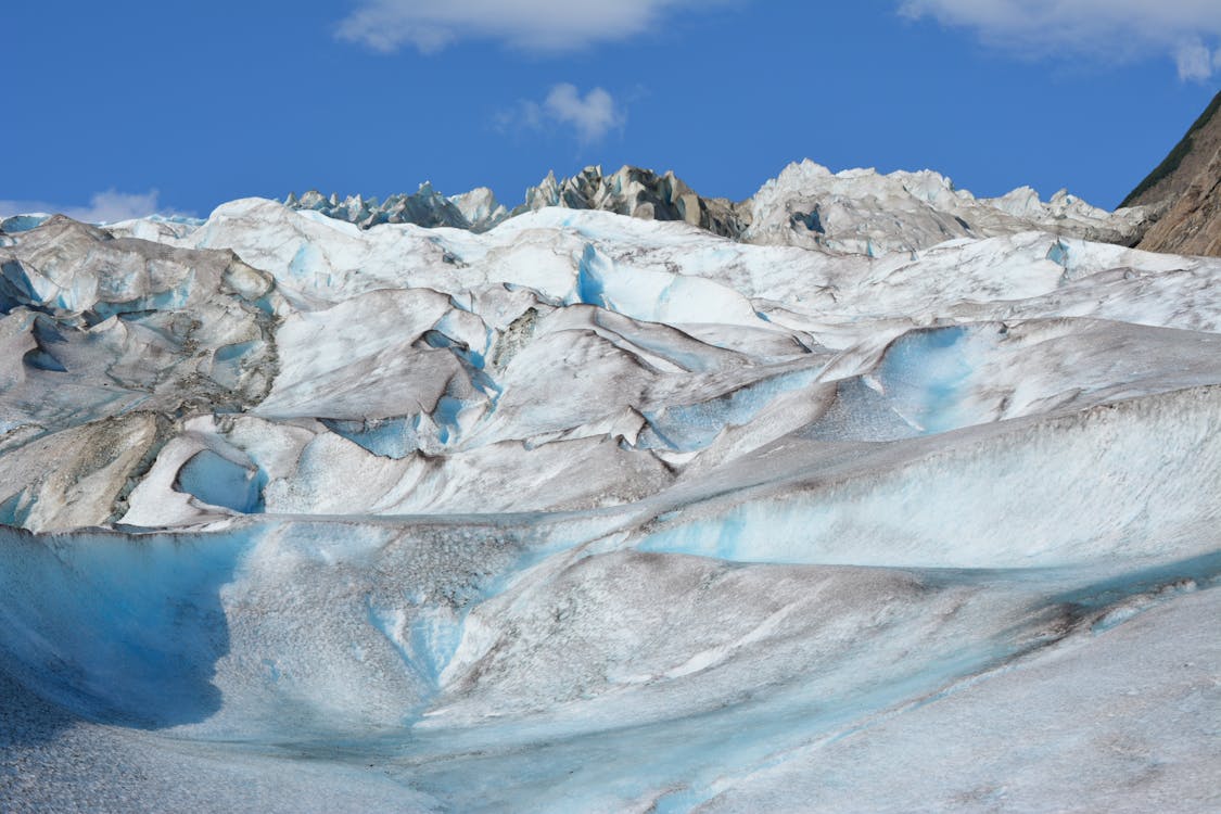
<svg viewBox="0 0 1221 814"><path fill-rule="evenodd" d="M1148 251L1221 256L1221 93L1123 205L1147 205L1156 221Z"/></svg>

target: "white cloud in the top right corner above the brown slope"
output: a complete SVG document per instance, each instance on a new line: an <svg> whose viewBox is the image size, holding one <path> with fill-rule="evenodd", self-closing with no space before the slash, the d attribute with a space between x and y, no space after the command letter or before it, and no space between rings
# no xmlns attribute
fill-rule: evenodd
<svg viewBox="0 0 1221 814"><path fill-rule="evenodd" d="M900 13L974 29L991 45L1029 56L1122 62L1170 56L1184 81L1221 70L1217 0L902 0Z"/></svg>

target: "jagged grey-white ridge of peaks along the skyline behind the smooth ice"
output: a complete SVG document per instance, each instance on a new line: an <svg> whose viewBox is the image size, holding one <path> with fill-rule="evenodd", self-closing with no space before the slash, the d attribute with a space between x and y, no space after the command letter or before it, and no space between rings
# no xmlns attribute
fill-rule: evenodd
<svg viewBox="0 0 1221 814"><path fill-rule="evenodd" d="M473 206L470 201L479 203ZM626 166L609 176L601 167L586 167L580 175L560 181L548 173L512 210L499 205L486 188L446 198L429 184L413 195L393 195L382 204L360 196L326 198L317 192L302 198L289 195L284 203L361 228L415 223L473 232L486 232L512 217L558 206L679 221L758 245L803 245L872 255L916 251L944 240L1022 229L1134 245L1148 226L1143 207L1107 212L1063 190L1046 203L1029 187L1001 198L977 199L937 172L833 173L808 160L789 165L779 177L739 203L705 198L673 172L659 176L652 170Z"/></svg>

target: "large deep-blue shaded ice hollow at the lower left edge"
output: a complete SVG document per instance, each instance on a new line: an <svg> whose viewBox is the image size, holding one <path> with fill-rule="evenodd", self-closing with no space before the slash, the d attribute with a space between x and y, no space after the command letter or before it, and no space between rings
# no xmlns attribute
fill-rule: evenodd
<svg viewBox="0 0 1221 814"><path fill-rule="evenodd" d="M228 650L220 588L247 533L53 541L0 528L0 655L27 686L127 726L195 722L220 709L211 683Z"/></svg>

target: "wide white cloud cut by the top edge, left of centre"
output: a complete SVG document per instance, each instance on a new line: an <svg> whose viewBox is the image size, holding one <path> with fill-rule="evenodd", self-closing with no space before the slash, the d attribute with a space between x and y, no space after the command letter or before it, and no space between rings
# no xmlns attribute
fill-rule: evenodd
<svg viewBox="0 0 1221 814"><path fill-rule="evenodd" d="M680 7L737 0L357 0L338 37L391 52L425 54L464 39L496 40L530 51L568 51L619 40L658 24Z"/></svg>

